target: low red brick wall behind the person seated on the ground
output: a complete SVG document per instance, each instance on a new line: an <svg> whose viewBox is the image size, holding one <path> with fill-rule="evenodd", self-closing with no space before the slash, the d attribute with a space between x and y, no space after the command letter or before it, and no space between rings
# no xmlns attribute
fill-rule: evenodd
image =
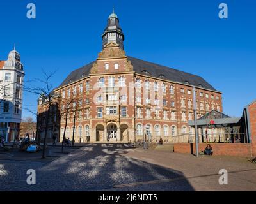
<svg viewBox="0 0 256 204"><path fill-rule="evenodd" d="M210 144L214 155L227 155L239 157L252 157L252 146L248 143L212 143ZM206 143L199 143L199 151L207 146ZM175 143L175 153L195 154L195 143ZM255 154L254 154L255 155Z"/></svg>

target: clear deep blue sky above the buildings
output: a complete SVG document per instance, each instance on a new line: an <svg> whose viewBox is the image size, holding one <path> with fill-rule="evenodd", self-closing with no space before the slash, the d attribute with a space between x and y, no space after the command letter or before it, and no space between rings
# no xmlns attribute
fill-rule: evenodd
<svg viewBox="0 0 256 204"><path fill-rule="evenodd" d="M35 3L36 19L26 18L28 3ZM228 19L218 18L220 3L227 3ZM223 92L230 116L241 116L256 98L255 1L1 0L0 59L16 43L26 80L40 77L42 68L58 69L52 82L57 87L95 60L112 5L127 55L204 77ZM35 111L36 99L25 92L24 106Z"/></svg>

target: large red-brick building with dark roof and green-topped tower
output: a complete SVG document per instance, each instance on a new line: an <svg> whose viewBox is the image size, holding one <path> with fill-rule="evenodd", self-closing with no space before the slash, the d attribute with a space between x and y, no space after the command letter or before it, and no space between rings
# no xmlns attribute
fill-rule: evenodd
<svg viewBox="0 0 256 204"><path fill-rule="evenodd" d="M115 142L163 138L173 142L180 134L191 133L193 87L196 87L197 117L211 110L222 112L221 92L204 78L152 62L129 57L124 51L124 33L117 15L109 15L102 34L102 52L97 59L70 75L54 90L59 96L60 140L72 138L77 107L75 141ZM44 103L38 103L41 113ZM73 117L72 117L73 116Z"/></svg>

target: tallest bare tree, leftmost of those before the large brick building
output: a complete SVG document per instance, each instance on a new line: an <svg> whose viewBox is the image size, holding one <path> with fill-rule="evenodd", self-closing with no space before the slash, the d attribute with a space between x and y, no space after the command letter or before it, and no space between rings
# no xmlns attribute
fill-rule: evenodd
<svg viewBox="0 0 256 204"><path fill-rule="evenodd" d="M41 78L36 78L36 82L39 82L42 84L41 86L25 86L24 90L27 92L31 92L33 94L36 94L37 96L40 96L45 103L46 108L46 115L45 115L45 132L44 132L44 146L43 146L43 153L42 158L45 158L45 144L46 144L46 137L47 137L47 131L49 126L49 116L52 108L52 95L54 94L54 87L51 84L51 78L56 73L56 71L52 73L46 73L44 69L42 70L43 74Z"/></svg>

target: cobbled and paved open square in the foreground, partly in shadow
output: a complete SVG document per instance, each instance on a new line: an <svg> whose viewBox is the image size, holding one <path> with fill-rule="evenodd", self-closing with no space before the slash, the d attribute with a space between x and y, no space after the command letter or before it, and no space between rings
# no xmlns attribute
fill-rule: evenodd
<svg viewBox="0 0 256 204"><path fill-rule="evenodd" d="M225 186L218 184L221 168L230 171ZM36 185L26 183L28 169ZM255 175L245 159L88 144L48 163L0 160L0 191L255 191Z"/></svg>

